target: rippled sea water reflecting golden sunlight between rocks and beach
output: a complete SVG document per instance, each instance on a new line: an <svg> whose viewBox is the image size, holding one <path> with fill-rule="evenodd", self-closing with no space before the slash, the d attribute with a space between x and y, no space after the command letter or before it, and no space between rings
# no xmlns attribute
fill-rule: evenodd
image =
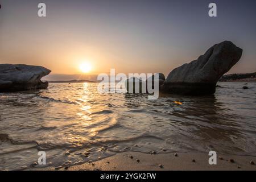
<svg viewBox="0 0 256 182"><path fill-rule="evenodd" d="M100 94L94 83L0 94L0 168L30 168L40 150L52 166L122 151L255 155L255 83L219 85L214 96L158 100Z"/></svg>

